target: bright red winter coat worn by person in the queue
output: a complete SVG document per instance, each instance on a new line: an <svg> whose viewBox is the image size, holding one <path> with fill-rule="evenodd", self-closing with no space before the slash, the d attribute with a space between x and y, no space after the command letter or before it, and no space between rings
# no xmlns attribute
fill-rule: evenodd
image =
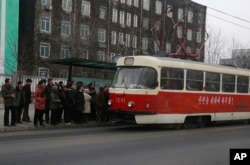
<svg viewBox="0 0 250 165"><path fill-rule="evenodd" d="M36 87L35 93L35 109L36 110L45 110L46 96L44 94L44 88L41 86Z"/></svg>

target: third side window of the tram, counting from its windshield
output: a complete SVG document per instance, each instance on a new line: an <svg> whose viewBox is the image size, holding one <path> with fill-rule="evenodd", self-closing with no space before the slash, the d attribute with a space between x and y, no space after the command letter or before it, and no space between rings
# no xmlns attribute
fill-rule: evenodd
<svg viewBox="0 0 250 165"><path fill-rule="evenodd" d="M206 73L206 91L219 92L220 91L220 74Z"/></svg>

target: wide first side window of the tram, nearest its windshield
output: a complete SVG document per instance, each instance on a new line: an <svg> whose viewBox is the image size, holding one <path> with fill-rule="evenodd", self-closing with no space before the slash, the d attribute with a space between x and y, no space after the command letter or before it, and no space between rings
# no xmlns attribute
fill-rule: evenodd
<svg viewBox="0 0 250 165"><path fill-rule="evenodd" d="M178 68L161 69L161 88L169 90L183 89L184 70Z"/></svg>

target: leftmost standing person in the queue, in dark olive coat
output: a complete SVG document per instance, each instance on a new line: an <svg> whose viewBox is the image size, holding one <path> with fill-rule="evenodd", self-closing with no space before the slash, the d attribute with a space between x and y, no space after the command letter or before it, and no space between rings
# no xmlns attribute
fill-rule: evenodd
<svg viewBox="0 0 250 165"><path fill-rule="evenodd" d="M11 80L9 78L5 79L5 84L2 86L2 96L4 99L4 126L10 126L9 112L11 112L11 126L16 126L16 121L15 121L16 95L15 95L15 89L11 85Z"/></svg>

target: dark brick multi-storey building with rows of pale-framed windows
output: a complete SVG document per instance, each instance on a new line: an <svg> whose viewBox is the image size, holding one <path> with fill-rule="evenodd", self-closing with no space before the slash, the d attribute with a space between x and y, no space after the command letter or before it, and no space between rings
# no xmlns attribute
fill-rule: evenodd
<svg viewBox="0 0 250 165"><path fill-rule="evenodd" d="M206 7L186 0L21 0L19 70L67 76L50 59L116 62L121 56L190 56L203 61ZM27 62L29 59L29 62ZM109 78L73 68L73 76Z"/></svg>

